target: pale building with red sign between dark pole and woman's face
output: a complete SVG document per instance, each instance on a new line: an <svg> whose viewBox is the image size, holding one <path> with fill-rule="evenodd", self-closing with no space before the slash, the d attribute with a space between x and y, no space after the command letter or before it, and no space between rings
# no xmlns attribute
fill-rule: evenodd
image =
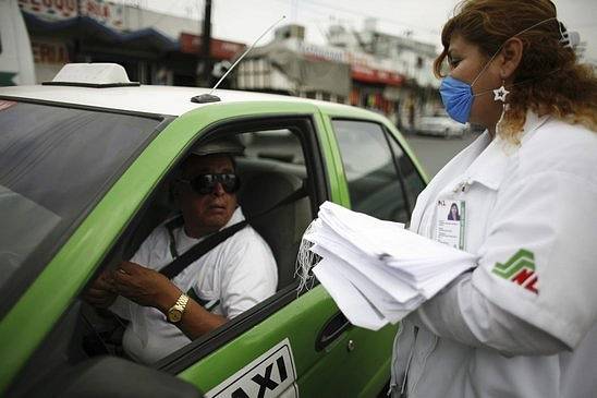
<svg viewBox="0 0 597 398"><path fill-rule="evenodd" d="M370 20L362 32L331 26L327 45L304 37L303 26L278 28L241 63L237 87L351 104L406 128L439 106L435 46L379 33Z"/></svg>

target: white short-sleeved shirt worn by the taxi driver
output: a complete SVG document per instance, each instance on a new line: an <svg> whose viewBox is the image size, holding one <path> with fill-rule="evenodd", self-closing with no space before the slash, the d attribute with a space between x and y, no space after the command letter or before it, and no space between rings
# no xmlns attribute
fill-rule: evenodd
<svg viewBox="0 0 597 398"><path fill-rule="evenodd" d="M224 228L244 219L239 207ZM183 227L173 230L173 236L179 255L200 241L187 237ZM131 258L156 270L172 261L166 225L157 227ZM190 264L172 282L183 292L193 289L205 309L231 319L276 292L278 270L266 241L247 226ZM130 321L123 347L137 362L156 362L191 342L157 309L119 297L111 310Z"/></svg>

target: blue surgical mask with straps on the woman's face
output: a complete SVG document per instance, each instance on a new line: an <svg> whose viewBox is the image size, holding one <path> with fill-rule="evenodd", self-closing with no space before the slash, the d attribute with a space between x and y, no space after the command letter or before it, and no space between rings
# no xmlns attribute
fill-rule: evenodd
<svg viewBox="0 0 597 398"><path fill-rule="evenodd" d="M515 37L524 32L527 32L551 20L556 20L556 17L550 17L539 23L536 23L535 25L519 32L512 37ZM441 81L441 84L439 86L439 94L441 95L441 101L443 102L443 106L446 107L446 111L448 112L450 118L454 119L455 121L460 123L463 123L463 124L466 123L468 121L468 118L471 117L471 109L473 108L473 100L475 99L475 97L492 91L492 89L487 89L477 94L473 94L473 86L475 85L477 80L482 76L482 74L485 72L487 67L489 67L489 63L491 63L494 58L496 58L496 56L501 51L502 47L503 45L501 45L500 48L498 48L498 50L491 56L489 61L487 61L485 67L483 67L482 71L473 80L473 83L468 84L466 82L463 82L450 75L446 76Z"/></svg>

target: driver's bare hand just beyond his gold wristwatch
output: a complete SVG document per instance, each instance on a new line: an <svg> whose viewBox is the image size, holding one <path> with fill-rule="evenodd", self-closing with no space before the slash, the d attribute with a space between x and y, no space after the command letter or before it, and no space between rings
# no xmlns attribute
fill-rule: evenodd
<svg viewBox="0 0 597 398"><path fill-rule="evenodd" d="M174 305L181 290L167 277L131 262L123 262L113 272L118 293L143 306L153 306L166 313Z"/></svg>

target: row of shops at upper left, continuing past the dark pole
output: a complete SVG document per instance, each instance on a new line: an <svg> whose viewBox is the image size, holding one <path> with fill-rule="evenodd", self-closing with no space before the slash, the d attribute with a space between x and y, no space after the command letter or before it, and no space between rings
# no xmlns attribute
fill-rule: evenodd
<svg viewBox="0 0 597 398"><path fill-rule="evenodd" d="M117 62L144 84L197 84L200 22L102 0L19 0L37 82L68 62ZM245 46L211 40L216 62Z"/></svg>

